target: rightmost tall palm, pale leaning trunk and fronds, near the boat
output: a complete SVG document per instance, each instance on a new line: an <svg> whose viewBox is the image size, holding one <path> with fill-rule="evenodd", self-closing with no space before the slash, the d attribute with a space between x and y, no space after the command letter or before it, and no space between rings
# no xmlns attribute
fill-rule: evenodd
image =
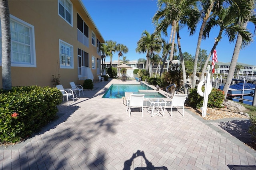
<svg viewBox="0 0 256 170"><path fill-rule="evenodd" d="M236 23L244 30L244 32L238 32L237 34L234 53L232 55L226 83L223 88L225 97L224 99L226 99L227 97L228 88L231 84L232 77L234 76L234 71L236 69L236 62L238 60L240 49L246 47L250 42L252 42L252 34L246 31L246 26L248 22L252 22L256 28L256 14L254 12L255 0L237 1L236 4L237 6L239 6L239 10L235 6L232 6L233 8L231 8L231 12L233 12L234 14L240 13L240 15L236 15Z"/></svg>

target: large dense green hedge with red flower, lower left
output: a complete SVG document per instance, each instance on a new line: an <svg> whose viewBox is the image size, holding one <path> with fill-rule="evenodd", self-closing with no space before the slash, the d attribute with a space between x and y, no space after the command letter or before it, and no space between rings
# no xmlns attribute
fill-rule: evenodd
<svg viewBox="0 0 256 170"><path fill-rule="evenodd" d="M51 87L12 87L0 93L0 141L18 142L56 119L62 93Z"/></svg>

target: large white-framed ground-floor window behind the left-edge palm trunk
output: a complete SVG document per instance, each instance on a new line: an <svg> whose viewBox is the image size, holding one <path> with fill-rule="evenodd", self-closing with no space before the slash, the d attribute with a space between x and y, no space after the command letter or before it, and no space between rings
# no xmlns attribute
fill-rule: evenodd
<svg viewBox="0 0 256 170"><path fill-rule="evenodd" d="M1 22L0 22L1 26ZM11 31L11 66L36 67L36 48L34 40L34 26L10 15ZM2 37L0 28L0 38ZM2 38L0 41L2 46ZM0 49L2 54L2 49ZM0 55L2 65L2 55Z"/></svg>

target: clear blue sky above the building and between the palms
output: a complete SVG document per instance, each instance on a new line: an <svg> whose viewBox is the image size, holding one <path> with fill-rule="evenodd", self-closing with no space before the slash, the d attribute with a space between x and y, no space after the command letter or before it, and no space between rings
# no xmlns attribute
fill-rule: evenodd
<svg viewBox="0 0 256 170"><path fill-rule="evenodd" d="M124 56L130 61L139 58L146 59L146 54L136 53L135 49L144 30L150 32L150 34L154 32L155 27L152 24L152 17L158 10L156 0L83 0L82 2L105 41L113 40L126 45L129 51ZM254 33L253 24L249 23L247 28ZM188 52L195 55L199 29L200 25L198 25L198 31L193 36L189 36L186 27L180 30L182 53ZM202 41L201 49L207 50L207 54L210 53L214 38L218 35L219 30L219 27L215 27L210 32L209 38ZM170 34L170 29L168 34ZM169 42L169 36L163 38ZM240 50L238 62L256 65L255 36L253 40L254 42L249 46ZM235 42L229 43L228 37L222 34L222 40L216 47L218 61L231 62L234 46ZM109 60L110 58L107 57L106 61ZM112 60L118 60L118 53L114 53Z"/></svg>

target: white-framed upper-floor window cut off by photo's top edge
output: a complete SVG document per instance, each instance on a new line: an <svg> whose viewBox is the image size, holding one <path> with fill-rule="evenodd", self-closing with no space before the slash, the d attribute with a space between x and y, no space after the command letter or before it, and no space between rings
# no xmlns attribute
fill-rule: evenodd
<svg viewBox="0 0 256 170"><path fill-rule="evenodd" d="M69 0L58 0L59 16L73 26L73 4Z"/></svg>

